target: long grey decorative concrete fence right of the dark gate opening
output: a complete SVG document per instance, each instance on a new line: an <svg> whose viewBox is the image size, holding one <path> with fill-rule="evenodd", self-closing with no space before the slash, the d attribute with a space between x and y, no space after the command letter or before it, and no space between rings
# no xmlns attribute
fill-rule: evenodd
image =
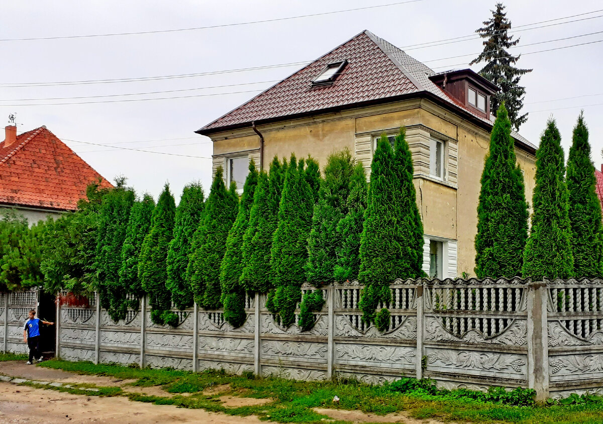
<svg viewBox="0 0 603 424"><path fill-rule="evenodd" d="M177 327L158 326L145 299L115 323L90 299L87 308L58 309L57 355L295 379L412 376L447 388L522 386L540 400L603 387L603 280L397 280L391 302L379 305L391 312L384 332L361 320L361 285L321 290L326 304L310 331L282 327L260 295L247 297L239 328L222 311L197 306L173 309Z"/></svg>

